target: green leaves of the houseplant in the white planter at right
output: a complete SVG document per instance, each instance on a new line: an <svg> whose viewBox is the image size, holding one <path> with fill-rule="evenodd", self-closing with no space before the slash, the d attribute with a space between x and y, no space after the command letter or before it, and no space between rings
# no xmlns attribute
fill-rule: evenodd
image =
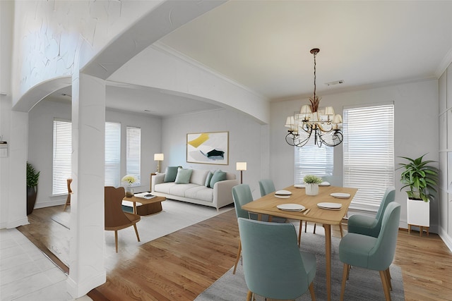
<svg viewBox="0 0 452 301"><path fill-rule="evenodd" d="M400 158L408 160L407 163L399 163L400 168L405 169L400 175L400 182L403 187L410 188L407 190L408 199L420 199L429 202L433 198L432 192L436 192L438 185L438 168L429 164L436 162L432 160L422 161L426 154L417 159L411 159L405 156Z"/></svg>

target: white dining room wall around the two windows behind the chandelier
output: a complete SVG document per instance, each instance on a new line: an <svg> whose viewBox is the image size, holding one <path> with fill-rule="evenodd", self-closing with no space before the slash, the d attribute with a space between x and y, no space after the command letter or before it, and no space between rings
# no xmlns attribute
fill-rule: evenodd
<svg viewBox="0 0 452 301"><path fill-rule="evenodd" d="M394 102L395 160L398 156L418 157L429 153L426 159L438 161L438 81L428 80L403 85L379 87L355 92L321 95L321 106L334 106L340 112L343 106ZM284 140L286 116L298 111L307 99L290 102L273 102L270 116L270 170L277 187L292 185L294 181L293 147ZM342 145L335 147L334 176L342 178ZM400 171L396 171L396 201L401 205L400 226L407 226L406 193L400 192ZM438 204L433 202L431 231L438 229Z"/></svg>

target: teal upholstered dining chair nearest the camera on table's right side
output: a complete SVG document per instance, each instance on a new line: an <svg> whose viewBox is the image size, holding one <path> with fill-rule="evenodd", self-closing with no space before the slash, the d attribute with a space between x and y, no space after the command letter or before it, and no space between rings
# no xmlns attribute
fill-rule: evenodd
<svg viewBox="0 0 452 301"><path fill-rule="evenodd" d="M339 243L339 259L344 263L340 300L344 300L345 283L350 266L379 271L386 300L391 300L391 276L389 266L394 259L397 245L400 204L387 205L381 221L381 231L374 238L370 235L347 233Z"/></svg>

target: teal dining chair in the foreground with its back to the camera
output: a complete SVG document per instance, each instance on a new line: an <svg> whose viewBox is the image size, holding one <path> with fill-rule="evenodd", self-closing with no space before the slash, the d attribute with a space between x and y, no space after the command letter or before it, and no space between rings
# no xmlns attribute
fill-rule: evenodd
<svg viewBox="0 0 452 301"><path fill-rule="evenodd" d="M267 299L293 300L307 290L314 294L316 256L300 252L292 223L268 223L239 218L243 248L243 271L249 289Z"/></svg>

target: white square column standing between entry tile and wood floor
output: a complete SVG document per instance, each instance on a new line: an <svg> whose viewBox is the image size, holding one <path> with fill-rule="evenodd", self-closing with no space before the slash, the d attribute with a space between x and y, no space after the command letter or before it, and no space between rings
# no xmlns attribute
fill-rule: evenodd
<svg viewBox="0 0 452 301"><path fill-rule="evenodd" d="M72 83L71 248L68 292L77 298L105 283L105 80L83 73Z"/></svg>

